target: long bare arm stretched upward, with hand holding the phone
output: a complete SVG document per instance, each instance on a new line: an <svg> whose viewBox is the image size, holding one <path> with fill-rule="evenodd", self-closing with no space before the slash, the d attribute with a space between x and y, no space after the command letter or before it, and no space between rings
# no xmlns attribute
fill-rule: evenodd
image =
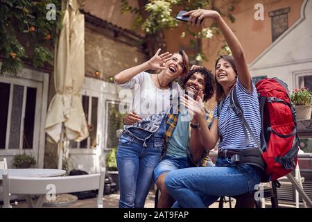
<svg viewBox="0 0 312 222"><path fill-rule="evenodd" d="M220 16L220 14L217 11L214 10L204 10L204 9L198 9L198 10L191 10L184 15L189 15L189 24L199 26L200 22L202 22L205 18L214 19L220 30L222 31L225 40L227 41L227 44L229 45L229 49L231 49L236 69L239 75L239 82L248 89L248 92L252 91L251 82L250 82L250 72L248 69L248 65L244 56L243 47L241 46L241 43L237 39L236 35L232 32L232 30L227 26L223 18ZM197 23L196 22L197 20Z"/></svg>

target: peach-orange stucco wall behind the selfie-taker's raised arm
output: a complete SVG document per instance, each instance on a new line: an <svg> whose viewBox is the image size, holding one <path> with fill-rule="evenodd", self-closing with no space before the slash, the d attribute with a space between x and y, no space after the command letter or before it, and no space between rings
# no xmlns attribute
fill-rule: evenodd
<svg viewBox="0 0 312 222"><path fill-rule="evenodd" d="M263 3L264 6L264 20L257 21L254 19L254 5L256 3ZM297 19L300 18L300 8L302 0L268 0L268 1L245 1L240 0L235 3L235 10L233 16L236 22L229 24L232 31L239 38L241 42L247 62L252 62L257 56L259 56L270 44L272 44L272 29L271 18L269 12L278 10L280 8L288 8L291 10L288 12L288 28L291 27ZM205 51L208 61L203 62L203 65L207 67L214 67L214 62L217 57L217 53L220 50L220 46L223 35L213 37L212 40L202 40L202 49Z"/></svg>

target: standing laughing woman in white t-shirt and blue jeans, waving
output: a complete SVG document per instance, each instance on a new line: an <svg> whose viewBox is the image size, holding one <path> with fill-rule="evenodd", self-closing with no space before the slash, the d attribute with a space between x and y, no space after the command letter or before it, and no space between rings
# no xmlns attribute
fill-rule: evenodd
<svg viewBox="0 0 312 222"><path fill-rule="evenodd" d="M121 208L143 208L164 145L164 117L173 96L180 87L174 82L189 70L184 51L163 53L136 67L121 71L114 81L123 89L132 89L132 103L127 126L119 138L117 167L119 171ZM157 70L149 74L146 70Z"/></svg>

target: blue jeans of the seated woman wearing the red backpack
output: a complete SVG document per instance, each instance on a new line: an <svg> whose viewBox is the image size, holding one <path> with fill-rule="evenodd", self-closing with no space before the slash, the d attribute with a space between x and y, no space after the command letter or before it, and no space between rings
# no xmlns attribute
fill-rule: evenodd
<svg viewBox="0 0 312 222"><path fill-rule="evenodd" d="M236 196L254 190L261 169L248 164L232 164L227 158L216 167L191 167L171 171L165 178L167 191L177 200L173 207L205 208L220 196Z"/></svg>

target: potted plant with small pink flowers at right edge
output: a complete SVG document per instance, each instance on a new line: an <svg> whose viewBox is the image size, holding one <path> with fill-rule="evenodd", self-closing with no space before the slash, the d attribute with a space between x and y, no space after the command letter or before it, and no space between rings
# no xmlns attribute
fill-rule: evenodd
<svg viewBox="0 0 312 222"><path fill-rule="evenodd" d="M295 89L291 94L291 101L295 105L297 120L311 119L312 95L306 87Z"/></svg>

